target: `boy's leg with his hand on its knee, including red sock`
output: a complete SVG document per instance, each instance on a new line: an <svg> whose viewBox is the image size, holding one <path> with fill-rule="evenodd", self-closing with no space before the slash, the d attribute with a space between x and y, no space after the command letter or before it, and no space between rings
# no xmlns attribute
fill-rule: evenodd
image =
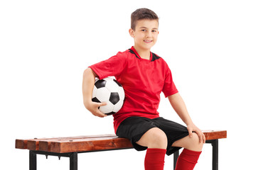
<svg viewBox="0 0 256 170"><path fill-rule="evenodd" d="M203 148L203 143L199 142L199 137L193 133L193 137L183 137L172 145L173 147L184 147L176 163L176 170L192 170L198 161Z"/></svg>

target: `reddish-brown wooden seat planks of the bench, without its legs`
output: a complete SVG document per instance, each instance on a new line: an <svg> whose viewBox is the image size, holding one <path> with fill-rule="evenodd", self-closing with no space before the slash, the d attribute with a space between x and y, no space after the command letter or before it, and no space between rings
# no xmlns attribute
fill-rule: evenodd
<svg viewBox="0 0 256 170"><path fill-rule="evenodd" d="M227 137L226 130L203 130L203 133L206 135L206 140L217 140ZM92 135L16 140L16 148L67 153L132 148L132 144L129 140L117 137L116 135Z"/></svg>

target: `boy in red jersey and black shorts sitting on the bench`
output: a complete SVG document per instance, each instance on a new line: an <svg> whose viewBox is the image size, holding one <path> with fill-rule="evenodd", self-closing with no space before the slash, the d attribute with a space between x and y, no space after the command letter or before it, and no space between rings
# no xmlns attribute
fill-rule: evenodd
<svg viewBox="0 0 256 170"><path fill-rule="evenodd" d="M125 91L124 105L113 115L114 131L119 137L129 138L135 149L147 149L145 169L164 169L165 154L170 155L181 147L184 149L178 157L176 170L193 169L205 137L188 115L168 65L150 51L159 34L158 26L159 18L154 11L147 8L134 11L129 29L134 46L85 69L83 100L85 108L93 115L105 117L98 107L106 103L92 102L92 89L95 77L114 76ZM161 91L187 127L159 117L156 110Z"/></svg>

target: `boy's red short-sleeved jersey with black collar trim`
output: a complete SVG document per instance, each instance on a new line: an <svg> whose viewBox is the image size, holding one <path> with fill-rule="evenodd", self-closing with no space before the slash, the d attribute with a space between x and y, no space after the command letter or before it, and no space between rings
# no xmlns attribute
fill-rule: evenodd
<svg viewBox="0 0 256 170"><path fill-rule="evenodd" d="M115 132L131 116L158 118L161 92L166 97L178 93L168 65L153 52L150 60L145 60L131 47L90 68L99 79L114 76L124 88L124 105L113 115Z"/></svg>

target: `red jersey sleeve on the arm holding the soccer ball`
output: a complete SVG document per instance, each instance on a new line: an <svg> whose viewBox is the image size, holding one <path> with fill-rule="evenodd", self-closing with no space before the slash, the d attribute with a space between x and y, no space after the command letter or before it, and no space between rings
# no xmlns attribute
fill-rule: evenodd
<svg viewBox="0 0 256 170"><path fill-rule="evenodd" d="M117 76L122 73L127 63L126 58L121 55L121 52L118 52L117 55L110 57L108 60L91 65L90 68L98 75L99 79Z"/></svg>

